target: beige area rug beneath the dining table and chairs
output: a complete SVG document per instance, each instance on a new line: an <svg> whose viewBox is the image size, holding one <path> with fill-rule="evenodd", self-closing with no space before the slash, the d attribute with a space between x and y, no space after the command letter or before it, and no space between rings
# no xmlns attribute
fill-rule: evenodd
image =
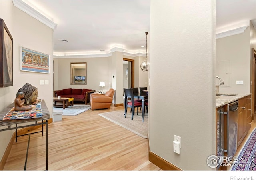
<svg viewBox="0 0 256 180"><path fill-rule="evenodd" d="M128 109L130 110L130 109ZM148 138L148 114L145 113L144 122L142 122L142 113L135 112L133 116L133 120L131 120L132 113L127 112L126 118L124 117L124 111L112 111L112 112L105 112L100 113L100 116L110 120L123 128L141 136L142 138Z"/></svg>

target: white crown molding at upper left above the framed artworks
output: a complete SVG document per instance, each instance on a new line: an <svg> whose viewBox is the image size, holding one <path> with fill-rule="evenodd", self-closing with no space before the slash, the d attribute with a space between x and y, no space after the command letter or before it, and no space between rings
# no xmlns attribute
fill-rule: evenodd
<svg viewBox="0 0 256 180"><path fill-rule="evenodd" d="M28 4L26 4L22 0L12 0L12 3L16 8L19 8L20 10L26 12L28 15L30 15L33 18L35 18L36 20L42 22L46 26L48 26L52 29L56 28L56 26L57 26L56 23L54 23L51 20L49 20L48 18L46 18L44 15L42 15L41 13L36 11L34 8L28 6Z"/></svg>

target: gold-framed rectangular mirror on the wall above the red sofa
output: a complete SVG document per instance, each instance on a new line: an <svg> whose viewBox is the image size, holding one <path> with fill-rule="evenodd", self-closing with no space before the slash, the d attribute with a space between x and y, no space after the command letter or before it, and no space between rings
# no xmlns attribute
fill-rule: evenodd
<svg viewBox="0 0 256 180"><path fill-rule="evenodd" d="M86 62L72 62L71 67L71 84L86 84Z"/></svg>

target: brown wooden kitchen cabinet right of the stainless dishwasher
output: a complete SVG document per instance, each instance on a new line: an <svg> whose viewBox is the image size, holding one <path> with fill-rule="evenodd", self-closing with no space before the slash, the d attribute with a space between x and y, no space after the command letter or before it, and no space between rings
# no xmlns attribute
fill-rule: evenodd
<svg viewBox="0 0 256 180"><path fill-rule="evenodd" d="M251 125L251 96L238 100L237 147L248 133Z"/></svg>

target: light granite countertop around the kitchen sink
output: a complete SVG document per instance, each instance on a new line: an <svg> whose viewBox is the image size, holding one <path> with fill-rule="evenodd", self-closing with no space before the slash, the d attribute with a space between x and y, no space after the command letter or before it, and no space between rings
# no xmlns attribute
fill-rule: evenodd
<svg viewBox="0 0 256 180"><path fill-rule="evenodd" d="M219 94L229 94L229 93L219 93ZM244 98L245 96L251 95L251 93L247 93L247 94L234 93L234 94L237 94L237 95L236 96L215 96L216 108L229 104L230 102L239 100L241 98Z"/></svg>

